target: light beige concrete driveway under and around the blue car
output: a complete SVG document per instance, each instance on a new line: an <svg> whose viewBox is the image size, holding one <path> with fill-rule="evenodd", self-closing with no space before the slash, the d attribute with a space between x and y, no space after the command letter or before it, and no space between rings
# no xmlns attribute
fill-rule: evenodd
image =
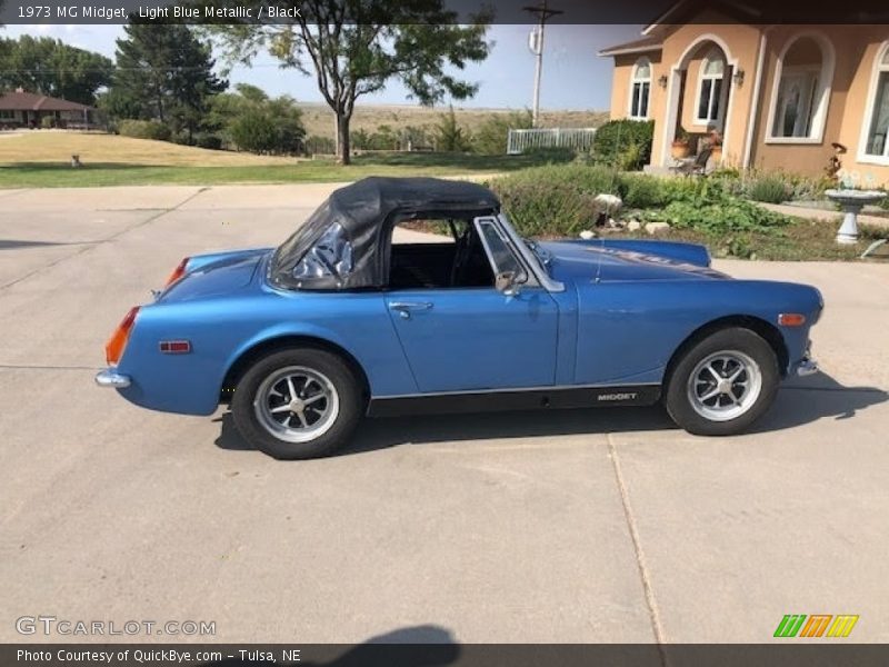
<svg viewBox="0 0 889 667"><path fill-rule="evenodd" d="M759 643L786 614L889 640L886 265L718 262L827 301L825 374L735 438L660 409L402 418L284 464L221 410L93 385L181 257L274 245L329 189L0 190L0 641L96 640L17 633L43 615L216 621L127 640Z"/></svg>

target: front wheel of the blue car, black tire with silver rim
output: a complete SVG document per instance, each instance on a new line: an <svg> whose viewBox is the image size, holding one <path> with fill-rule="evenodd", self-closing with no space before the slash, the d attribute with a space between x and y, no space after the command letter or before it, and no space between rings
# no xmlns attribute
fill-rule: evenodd
<svg viewBox="0 0 889 667"><path fill-rule="evenodd" d="M738 379L729 382L742 366ZM722 376L719 381L716 374ZM667 378L663 402L672 420L690 434L731 436L769 409L779 382L778 358L771 346L750 329L727 328L700 340L679 358ZM712 392L718 394L701 400Z"/></svg>

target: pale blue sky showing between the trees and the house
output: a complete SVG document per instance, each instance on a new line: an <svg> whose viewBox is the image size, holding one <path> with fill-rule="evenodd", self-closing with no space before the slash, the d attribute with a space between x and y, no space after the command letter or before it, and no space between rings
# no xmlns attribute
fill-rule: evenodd
<svg viewBox="0 0 889 667"><path fill-rule="evenodd" d="M547 26L541 109L608 110L611 97L610 58L597 52L623 41L638 39L642 26ZM475 98L456 102L459 107L530 108L532 104L535 58L528 49L529 26L496 24L488 31L493 48L481 63L470 63L463 78L480 83ZM122 26L7 26L0 36L47 36L81 49L114 57L114 40L123 34ZM263 54L252 68L231 70L229 81L250 82L272 96L289 94L298 101L321 102L314 79L296 70L281 70L277 61ZM361 98L364 103L411 103L399 83ZM447 103L447 102L446 102Z"/></svg>

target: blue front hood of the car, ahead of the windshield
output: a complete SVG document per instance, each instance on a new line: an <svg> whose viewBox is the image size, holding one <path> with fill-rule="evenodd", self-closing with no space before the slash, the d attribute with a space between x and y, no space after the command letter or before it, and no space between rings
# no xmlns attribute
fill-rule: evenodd
<svg viewBox="0 0 889 667"><path fill-rule="evenodd" d="M719 280L703 246L671 241L589 240L540 243L551 255L548 268L559 281Z"/></svg>

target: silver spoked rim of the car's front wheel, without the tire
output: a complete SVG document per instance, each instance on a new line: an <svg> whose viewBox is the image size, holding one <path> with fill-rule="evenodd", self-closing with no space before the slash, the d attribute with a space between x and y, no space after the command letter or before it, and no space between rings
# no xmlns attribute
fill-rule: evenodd
<svg viewBox="0 0 889 667"><path fill-rule="evenodd" d="M762 371L737 350L713 352L695 367L688 379L688 400L710 421L729 421L747 412L762 391Z"/></svg>

